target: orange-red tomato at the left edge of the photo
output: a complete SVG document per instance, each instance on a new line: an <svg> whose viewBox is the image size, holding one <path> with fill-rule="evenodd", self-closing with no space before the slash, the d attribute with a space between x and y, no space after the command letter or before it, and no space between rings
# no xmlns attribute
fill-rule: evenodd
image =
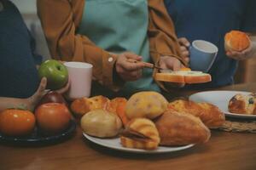
<svg viewBox="0 0 256 170"><path fill-rule="evenodd" d="M0 113L0 132L9 136L23 136L32 133L35 116L30 111L8 109Z"/></svg>

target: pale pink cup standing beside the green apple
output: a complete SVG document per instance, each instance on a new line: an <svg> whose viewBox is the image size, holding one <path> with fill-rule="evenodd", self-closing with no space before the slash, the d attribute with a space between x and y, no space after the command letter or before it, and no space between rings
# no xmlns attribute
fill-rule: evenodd
<svg viewBox="0 0 256 170"><path fill-rule="evenodd" d="M67 67L70 87L67 92L68 99L90 97L92 67L89 63L65 62Z"/></svg>

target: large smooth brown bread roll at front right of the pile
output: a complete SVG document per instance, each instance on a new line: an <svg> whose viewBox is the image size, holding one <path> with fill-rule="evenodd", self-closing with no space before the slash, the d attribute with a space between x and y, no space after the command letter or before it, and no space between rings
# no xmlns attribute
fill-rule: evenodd
<svg viewBox="0 0 256 170"><path fill-rule="evenodd" d="M205 143L211 136L204 123L188 113L167 110L154 123L160 134L160 145Z"/></svg>

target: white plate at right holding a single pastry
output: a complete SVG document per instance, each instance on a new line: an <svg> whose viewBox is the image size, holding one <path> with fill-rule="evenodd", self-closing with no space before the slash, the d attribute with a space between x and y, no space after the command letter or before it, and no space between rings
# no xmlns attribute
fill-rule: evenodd
<svg viewBox="0 0 256 170"><path fill-rule="evenodd" d="M195 102L207 102L212 105L218 106L218 108L224 112L225 116L236 117L236 118L250 118L255 119L256 115L245 115L239 113L230 113L228 105L230 99L236 94L251 94L250 92L244 91L206 91L189 96L190 100Z"/></svg>

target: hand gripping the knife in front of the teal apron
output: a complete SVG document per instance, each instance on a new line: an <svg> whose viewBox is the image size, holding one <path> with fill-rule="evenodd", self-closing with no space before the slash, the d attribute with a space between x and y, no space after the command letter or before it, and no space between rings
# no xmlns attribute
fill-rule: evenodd
<svg viewBox="0 0 256 170"><path fill-rule="evenodd" d="M130 62L128 59L141 61L143 58L137 54L125 52L119 54L115 63L115 70L125 82L136 81L142 77L143 62Z"/></svg>

